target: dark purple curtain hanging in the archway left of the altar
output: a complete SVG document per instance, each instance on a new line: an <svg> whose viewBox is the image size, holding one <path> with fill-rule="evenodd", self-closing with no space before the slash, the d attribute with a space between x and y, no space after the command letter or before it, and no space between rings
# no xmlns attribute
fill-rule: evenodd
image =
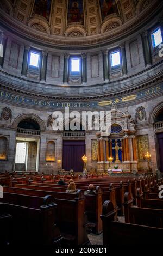
<svg viewBox="0 0 163 256"><path fill-rule="evenodd" d="M85 154L85 141L63 142L63 164L66 171L73 169L74 172L83 172L82 156Z"/></svg>

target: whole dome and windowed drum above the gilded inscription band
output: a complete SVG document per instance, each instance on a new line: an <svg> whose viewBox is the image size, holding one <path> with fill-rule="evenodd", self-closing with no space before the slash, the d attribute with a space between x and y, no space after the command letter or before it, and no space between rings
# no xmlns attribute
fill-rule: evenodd
<svg viewBox="0 0 163 256"><path fill-rule="evenodd" d="M37 95L54 107L60 97L77 105L90 97L89 107L105 108L139 101L162 80L162 4L1 0L2 87L12 100L23 93L33 104Z"/></svg>

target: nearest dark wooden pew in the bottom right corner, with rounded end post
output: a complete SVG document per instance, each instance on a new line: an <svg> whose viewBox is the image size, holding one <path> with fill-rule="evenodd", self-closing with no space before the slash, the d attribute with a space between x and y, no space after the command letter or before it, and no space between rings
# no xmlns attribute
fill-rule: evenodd
<svg viewBox="0 0 163 256"><path fill-rule="evenodd" d="M139 246L158 245L162 243L162 228L149 227L114 221L112 202L103 204L101 219L103 222L103 246Z"/></svg>

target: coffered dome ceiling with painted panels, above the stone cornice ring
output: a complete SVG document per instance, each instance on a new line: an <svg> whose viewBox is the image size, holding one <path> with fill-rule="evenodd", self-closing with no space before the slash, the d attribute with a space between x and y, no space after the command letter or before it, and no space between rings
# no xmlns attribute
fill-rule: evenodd
<svg viewBox="0 0 163 256"><path fill-rule="evenodd" d="M152 0L1 0L17 26L58 40L102 38L129 26ZM2 18L2 15L1 15ZM17 29L18 30L18 29ZM21 29L22 30L22 29Z"/></svg>

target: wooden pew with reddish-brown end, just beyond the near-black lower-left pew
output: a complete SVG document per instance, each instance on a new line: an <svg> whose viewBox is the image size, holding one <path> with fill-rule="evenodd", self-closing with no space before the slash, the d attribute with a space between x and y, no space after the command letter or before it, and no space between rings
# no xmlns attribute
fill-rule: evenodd
<svg viewBox="0 0 163 256"><path fill-rule="evenodd" d="M10 202L14 201L23 206L32 204L36 207L39 205L39 200L47 193L51 194L57 203L57 223L65 243L73 243L74 245L89 243L87 237L89 222L85 214L85 197L82 190L78 190L77 193L63 193L4 187L4 198L1 200L8 202L10 197Z"/></svg>

